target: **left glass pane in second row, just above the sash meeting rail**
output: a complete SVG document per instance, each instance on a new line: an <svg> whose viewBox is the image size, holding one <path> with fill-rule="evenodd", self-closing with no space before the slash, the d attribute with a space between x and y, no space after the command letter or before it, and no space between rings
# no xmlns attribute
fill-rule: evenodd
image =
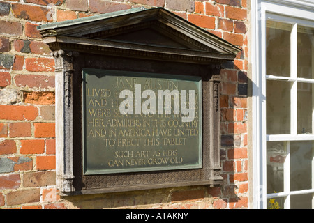
<svg viewBox="0 0 314 223"><path fill-rule="evenodd" d="M267 134L290 134L290 82L267 80Z"/></svg>

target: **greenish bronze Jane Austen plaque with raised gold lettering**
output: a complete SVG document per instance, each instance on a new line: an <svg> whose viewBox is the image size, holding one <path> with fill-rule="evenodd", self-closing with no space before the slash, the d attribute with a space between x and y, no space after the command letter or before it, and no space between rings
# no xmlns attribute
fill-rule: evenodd
<svg viewBox="0 0 314 223"><path fill-rule="evenodd" d="M202 167L200 77L83 69L84 174Z"/></svg>

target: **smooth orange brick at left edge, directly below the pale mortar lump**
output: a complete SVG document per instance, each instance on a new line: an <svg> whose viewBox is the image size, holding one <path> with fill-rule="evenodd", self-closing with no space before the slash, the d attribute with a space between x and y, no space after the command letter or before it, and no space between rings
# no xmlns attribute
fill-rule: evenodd
<svg viewBox="0 0 314 223"><path fill-rule="evenodd" d="M33 106L0 105L0 119L5 120L34 120L38 109Z"/></svg>

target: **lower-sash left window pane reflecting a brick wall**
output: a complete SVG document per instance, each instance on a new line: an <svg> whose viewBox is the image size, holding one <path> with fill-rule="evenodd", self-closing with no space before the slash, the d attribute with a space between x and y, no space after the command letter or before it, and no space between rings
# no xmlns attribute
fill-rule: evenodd
<svg viewBox="0 0 314 223"><path fill-rule="evenodd" d="M267 141L267 194L283 192L284 141Z"/></svg>

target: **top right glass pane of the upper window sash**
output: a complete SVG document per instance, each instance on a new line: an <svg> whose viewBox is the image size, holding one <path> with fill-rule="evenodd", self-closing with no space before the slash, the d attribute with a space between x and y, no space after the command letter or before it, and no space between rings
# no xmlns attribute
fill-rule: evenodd
<svg viewBox="0 0 314 223"><path fill-rule="evenodd" d="M298 77L314 78L314 29L298 25Z"/></svg>

